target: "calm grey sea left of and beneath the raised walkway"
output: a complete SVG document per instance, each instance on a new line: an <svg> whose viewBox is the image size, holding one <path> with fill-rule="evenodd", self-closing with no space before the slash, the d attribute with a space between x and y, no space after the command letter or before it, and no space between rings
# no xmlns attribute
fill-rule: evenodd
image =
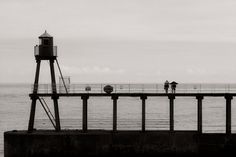
<svg viewBox="0 0 236 157"><path fill-rule="evenodd" d="M3 132L27 129L30 99L30 85L0 85L0 157L3 157ZM52 109L51 99L46 99ZM197 101L194 98L175 99L175 129L197 129ZM232 100L232 125L236 132L236 101ZM81 129L82 101L78 98L60 98L61 125L64 129ZM169 127L169 105L167 98L148 98L146 106L146 128L167 130ZM52 128L42 107L36 108L37 129ZM90 98L88 106L89 129L112 128L112 100L110 98ZM52 128L53 129L53 128ZM118 129L141 129L140 98L120 98L118 100ZM224 98L203 100L203 132L225 132Z"/></svg>

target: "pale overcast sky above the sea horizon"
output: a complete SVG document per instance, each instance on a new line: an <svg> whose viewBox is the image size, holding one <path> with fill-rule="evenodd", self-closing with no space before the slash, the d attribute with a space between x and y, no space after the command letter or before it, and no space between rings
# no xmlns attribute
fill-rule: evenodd
<svg viewBox="0 0 236 157"><path fill-rule="evenodd" d="M235 0L0 0L0 83L33 83L45 30L72 83L236 83L235 8ZM40 72L50 82L46 61Z"/></svg>

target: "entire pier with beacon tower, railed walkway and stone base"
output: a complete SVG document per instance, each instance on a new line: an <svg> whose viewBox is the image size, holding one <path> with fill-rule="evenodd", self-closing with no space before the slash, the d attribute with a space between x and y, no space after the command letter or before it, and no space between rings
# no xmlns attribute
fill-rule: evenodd
<svg viewBox="0 0 236 157"><path fill-rule="evenodd" d="M57 61L57 48L53 37L46 31L39 36L35 46L36 73L32 85L31 109L27 130L4 133L5 157L76 157L76 156L169 156L169 155L232 155L236 154L236 134L232 133L232 104L236 97L236 85L217 86L207 84L178 84L172 91L165 91L160 84L66 84ZM39 73L42 61L50 66L51 84L40 84ZM62 83L57 85L54 63L57 64ZM69 81L70 82L70 81ZM48 108L44 97L53 102L53 111ZM78 97L82 101L82 129L62 130L58 99ZM108 97L112 108L112 129L92 130L88 128L88 100L91 97ZM136 97L141 103L141 128L137 130L117 129L118 100ZM165 97L169 102L169 129L148 130L146 128L146 101L150 97ZM197 129L175 130L175 99L192 97L197 106ZM203 133L202 113L204 98L225 99L225 132ZM37 104L38 102L38 104ZM34 126L36 106L41 105L54 129L38 130ZM132 110L132 108L130 108Z"/></svg>

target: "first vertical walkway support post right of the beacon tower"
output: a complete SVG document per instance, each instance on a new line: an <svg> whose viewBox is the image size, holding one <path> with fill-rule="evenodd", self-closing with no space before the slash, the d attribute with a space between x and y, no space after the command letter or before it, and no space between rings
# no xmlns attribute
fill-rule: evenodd
<svg viewBox="0 0 236 157"><path fill-rule="evenodd" d="M83 100L83 132L87 132L88 130L88 95L82 95L81 99Z"/></svg>

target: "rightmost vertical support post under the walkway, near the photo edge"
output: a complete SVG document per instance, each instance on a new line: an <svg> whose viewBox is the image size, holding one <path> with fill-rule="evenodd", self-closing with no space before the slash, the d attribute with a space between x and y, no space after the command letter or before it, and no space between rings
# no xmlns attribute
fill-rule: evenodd
<svg viewBox="0 0 236 157"><path fill-rule="evenodd" d="M231 134L231 100L232 95L225 95L226 99L226 134Z"/></svg>

